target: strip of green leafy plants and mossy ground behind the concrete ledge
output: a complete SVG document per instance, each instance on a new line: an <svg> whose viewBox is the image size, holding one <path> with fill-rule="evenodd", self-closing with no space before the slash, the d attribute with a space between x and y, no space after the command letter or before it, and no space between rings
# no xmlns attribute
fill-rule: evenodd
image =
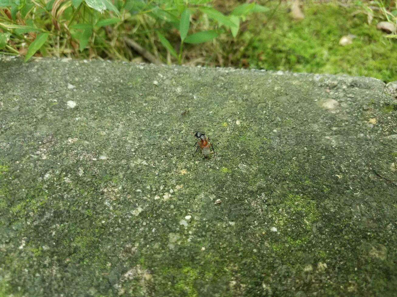
<svg viewBox="0 0 397 297"><path fill-rule="evenodd" d="M397 80L395 1L0 0L0 52ZM339 45L342 36L351 44Z"/></svg>

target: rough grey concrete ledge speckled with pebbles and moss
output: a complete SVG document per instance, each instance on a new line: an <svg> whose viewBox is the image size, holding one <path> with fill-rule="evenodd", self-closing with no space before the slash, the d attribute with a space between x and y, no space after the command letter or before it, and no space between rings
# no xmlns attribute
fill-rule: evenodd
<svg viewBox="0 0 397 297"><path fill-rule="evenodd" d="M1 57L0 295L395 294L384 86Z"/></svg>

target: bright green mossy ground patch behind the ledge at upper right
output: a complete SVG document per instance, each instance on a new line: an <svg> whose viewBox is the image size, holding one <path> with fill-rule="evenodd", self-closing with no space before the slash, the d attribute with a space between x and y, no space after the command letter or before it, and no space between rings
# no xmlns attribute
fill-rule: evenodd
<svg viewBox="0 0 397 297"><path fill-rule="evenodd" d="M291 21L282 10L258 15L249 23L249 29L240 33L233 63L240 67L248 63L252 68L396 80L397 56L390 53L397 52L397 42L383 38L375 21L368 25L366 14L358 10L333 4L309 5L304 7L301 21ZM258 22L264 25L256 26ZM347 34L356 36L353 43L339 46L340 38Z"/></svg>

